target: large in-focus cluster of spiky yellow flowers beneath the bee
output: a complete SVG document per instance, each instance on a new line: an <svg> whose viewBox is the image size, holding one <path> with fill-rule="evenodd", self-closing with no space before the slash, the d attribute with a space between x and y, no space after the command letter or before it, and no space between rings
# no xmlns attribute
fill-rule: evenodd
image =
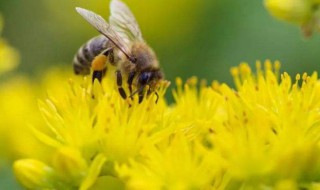
<svg viewBox="0 0 320 190"><path fill-rule="evenodd" d="M39 102L45 158L17 160L15 175L29 189L319 189L317 74L261 67L232 68L236 90L177 79L172 105L167 83L158 104L129 106L111 77L70 79Z"/></svg>

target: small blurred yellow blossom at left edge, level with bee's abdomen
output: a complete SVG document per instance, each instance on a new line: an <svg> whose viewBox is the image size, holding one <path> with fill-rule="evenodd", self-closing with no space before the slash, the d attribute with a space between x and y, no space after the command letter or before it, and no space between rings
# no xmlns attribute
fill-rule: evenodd
<svg viewBox="0 0 320 190"><path fill-rule="evenodd" d="M0 35L3 28L3 19L0 15ZM13 70L19 63L19 54L6 40L0 38L0 75Z"/></svg>

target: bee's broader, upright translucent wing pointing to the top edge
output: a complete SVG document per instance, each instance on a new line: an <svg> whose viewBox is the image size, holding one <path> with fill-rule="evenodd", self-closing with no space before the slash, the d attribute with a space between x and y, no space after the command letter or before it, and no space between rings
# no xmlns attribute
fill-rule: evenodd
<svg viewBox="0 0 320 190"><path fill-rule="evenodd" d="M126 4L120 0L112 0L110 3L110 25L127 43L138 40L143 41L139 25Z"/></svg>

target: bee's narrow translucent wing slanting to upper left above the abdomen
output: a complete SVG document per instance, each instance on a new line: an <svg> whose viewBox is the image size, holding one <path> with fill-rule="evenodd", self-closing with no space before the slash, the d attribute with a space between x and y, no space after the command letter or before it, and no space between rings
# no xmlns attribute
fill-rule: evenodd
<svg viewBox="0 0 320 190"><path fill-rule="evenodd" d="M128 59L133 59L127 43L121 39L121 36L119 36L117 32L111 28L111 25L109 25L100 15L80 7L77 7L76 10L94 28L107 37L115 46L117 46L127 56Z"/></svg>

